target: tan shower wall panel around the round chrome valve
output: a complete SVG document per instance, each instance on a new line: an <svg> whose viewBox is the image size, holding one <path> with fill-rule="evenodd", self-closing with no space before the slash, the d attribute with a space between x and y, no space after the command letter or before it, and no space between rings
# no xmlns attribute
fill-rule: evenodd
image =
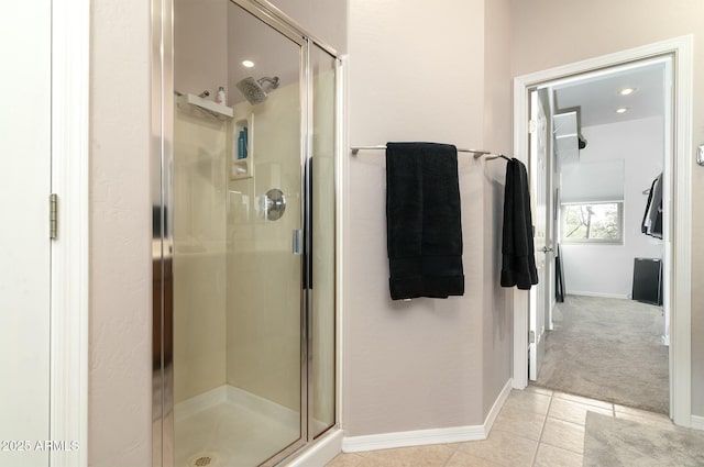
<svg viewBox="0 0 704 467"><path fill-rule="evenodd" d="M231 180L228 193L227 380L277 404L300 405L300 256L292 233L300 227L300 89L286 84L258 105L234 105L234 121L254 113L249 133L254 177ZM230 146L231 147L231 146ZM267 221L257 210L280 189L286 211ZM288 280L276 280L285 277ZM295 307L299 310L299 307Z"/></svg>

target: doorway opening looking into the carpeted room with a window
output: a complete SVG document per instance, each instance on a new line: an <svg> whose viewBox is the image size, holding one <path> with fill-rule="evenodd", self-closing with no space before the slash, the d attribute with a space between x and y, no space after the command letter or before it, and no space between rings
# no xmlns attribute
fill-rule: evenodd
<svg viewBox="0 0 704 467"><path fill-rule="evenodd" d="M537 356L544 358L531 353L530 379L660 413L669 412L669 283L661 278L669 241L662 220L671 215L662 184L671 159L670 76L671 57L664 57L534 91L549 102L554 144L542 193L553 198L546 223L553 224L550 249L560 251L551 266L560 262L563 294L544 302L548 331ZM539 198L536 203L537 215L546 215ZM531 330L540 311L531 307Z"/></svg>

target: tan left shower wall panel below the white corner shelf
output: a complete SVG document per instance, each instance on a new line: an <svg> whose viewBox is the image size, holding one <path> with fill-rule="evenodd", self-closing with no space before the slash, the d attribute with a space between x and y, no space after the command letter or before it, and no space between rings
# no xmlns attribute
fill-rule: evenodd
<svg viewBox="0 0 704 467"><path fill-rule="evenodd" d="M174 130L174 398L226 381L227 124L177 108Z"/></svg>

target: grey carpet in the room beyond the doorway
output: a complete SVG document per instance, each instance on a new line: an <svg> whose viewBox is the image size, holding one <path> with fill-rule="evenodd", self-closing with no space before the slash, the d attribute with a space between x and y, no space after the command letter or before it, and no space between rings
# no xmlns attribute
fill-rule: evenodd
<svg viewBox="0 0 704 467"><path fill-rule="evenodd" d="M659 413L669 412L662 308L632 300L566 296L546 337L537 383Z"/></svg>

